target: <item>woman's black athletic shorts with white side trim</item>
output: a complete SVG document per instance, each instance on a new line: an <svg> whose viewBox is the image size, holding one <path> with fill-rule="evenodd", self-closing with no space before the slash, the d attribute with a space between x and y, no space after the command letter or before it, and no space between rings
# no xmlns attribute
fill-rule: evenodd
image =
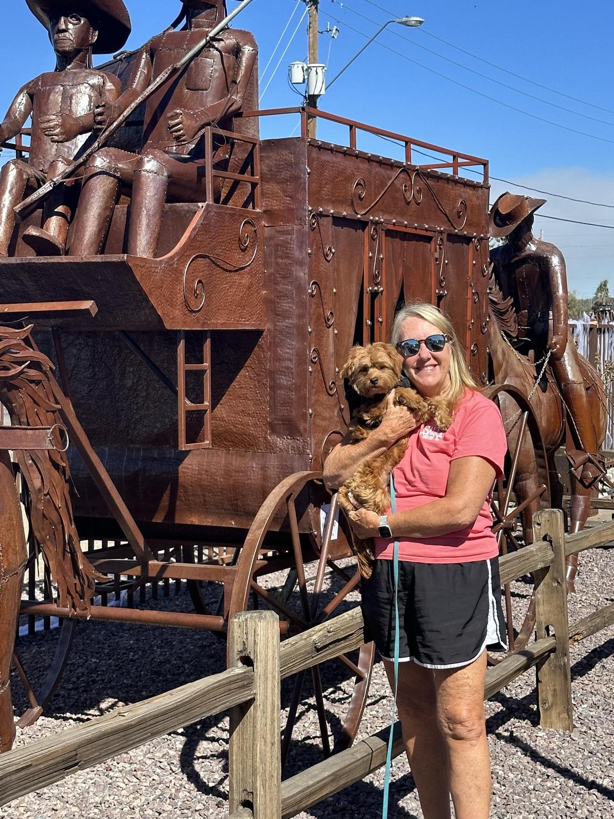
<svg viewBox="0 0 614 819"><path fill-rule="evenodd" d="M384 659L395 656L395 576L392 560L377 559L362 581L365 636ZM499 561L413 563L399 561L401 662L427 668L472 663L484 649L503 651Z"/></svg>

